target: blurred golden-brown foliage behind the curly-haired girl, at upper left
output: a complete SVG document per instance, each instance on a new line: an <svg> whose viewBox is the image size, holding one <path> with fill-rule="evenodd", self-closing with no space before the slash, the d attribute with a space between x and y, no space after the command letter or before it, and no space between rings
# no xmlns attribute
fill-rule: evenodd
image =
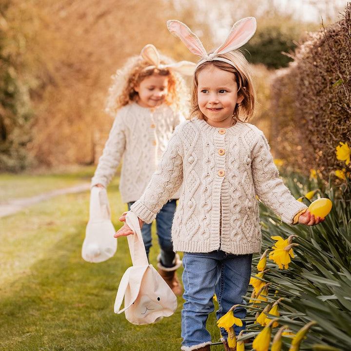
<svg viewBox="0 0 351 351"><path fill-rule="evenodd" d="M41 165L94 162L95 139L102 135L104 142L112 125L104 113L111 76L144 45L175 57L179 41L166 27L178 18L167 0L12 0L9 17L22 32L23 58L37 82L28 150ZM187 52L179 45L184 59L181 51Z"/></svg>

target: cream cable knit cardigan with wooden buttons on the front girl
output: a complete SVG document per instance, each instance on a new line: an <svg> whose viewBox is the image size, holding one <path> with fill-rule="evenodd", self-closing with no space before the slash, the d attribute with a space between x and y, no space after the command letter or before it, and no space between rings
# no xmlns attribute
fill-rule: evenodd
<svg viewBox="0 0 351 351"><path fill-rule="evenodd" d="M258 253L256 195L289 224L306 208L279 178L263 133L248 123L223 129L194 119L178 126L131 210L150 223L182 182L172 228L175 251Z"/></svg>

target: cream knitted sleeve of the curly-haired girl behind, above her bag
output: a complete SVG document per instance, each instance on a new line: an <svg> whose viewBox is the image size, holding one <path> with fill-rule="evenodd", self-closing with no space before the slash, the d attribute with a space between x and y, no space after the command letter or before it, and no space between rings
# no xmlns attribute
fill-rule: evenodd
<svg viewBox="0 0 351 351"><path fill-rule="evenodd" d="M124 123L120 113L117 113L104 150L99 158L98 167L92 178L91 187L96 184L102 184L105 188L108 186L121 162L124 150Z"/></svg>

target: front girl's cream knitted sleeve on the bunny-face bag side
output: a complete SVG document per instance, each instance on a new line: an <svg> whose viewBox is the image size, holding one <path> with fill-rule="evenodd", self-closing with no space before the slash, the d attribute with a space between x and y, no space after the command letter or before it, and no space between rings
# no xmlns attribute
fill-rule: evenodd
<svg viewBox="0 0 351 351"><path fill-rule="evenodd" d="M177 130L179 130L178 127ZM183 182L183 146L176 131L144 194L131 207L131 211L146 223L151 223L156 218L157 213Z"/></svg>

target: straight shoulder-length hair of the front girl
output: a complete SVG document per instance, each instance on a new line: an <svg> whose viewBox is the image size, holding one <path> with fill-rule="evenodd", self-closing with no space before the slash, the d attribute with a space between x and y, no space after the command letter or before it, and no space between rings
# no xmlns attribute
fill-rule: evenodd
<svg viewBox="0 0 351 351"><path fill-rule="evenodd" d="M198 106L197 78L198 74L203 69L210 65L213 65L223 71L227 71L234 74L235 81L238 85L238 97L243 97L243 100L241 101L241 103L236 104L233 117L235 120L239 120L241 122L249 122L249 120L254 114L254 106L256 101L256 94L251 78L249 62L239 50L231 51L225 54L220 54L216 57L230 60L234 63L235 67L230 63L219 60L206 61L196 67L192 83L190 116L207 120L206 116L200 111L200 108Z"/></svg>

